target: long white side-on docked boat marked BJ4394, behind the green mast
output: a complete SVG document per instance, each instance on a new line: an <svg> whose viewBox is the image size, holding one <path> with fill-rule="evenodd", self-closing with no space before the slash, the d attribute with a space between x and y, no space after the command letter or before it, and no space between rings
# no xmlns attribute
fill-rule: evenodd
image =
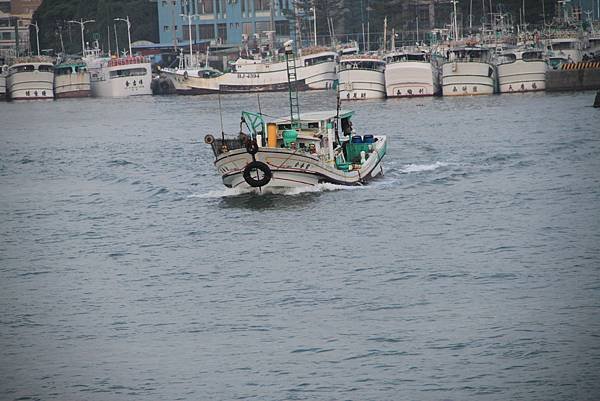
<svg viewBox="0 0 600 401"><path fill-rule="evenodd" d="M325 51L296 58L294 82L299 90L333 88L336 80L337 53ZM178 93L244 93L285 91L288 77L285 60L240 58L232 64L232 72L221 73L210 67L161 70Z"/></svg>

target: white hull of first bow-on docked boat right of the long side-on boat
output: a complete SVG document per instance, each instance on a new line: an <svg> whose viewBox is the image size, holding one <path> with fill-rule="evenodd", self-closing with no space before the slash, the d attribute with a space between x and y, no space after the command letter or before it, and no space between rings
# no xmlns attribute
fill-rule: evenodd
<svg viewBox="0 0 600 401"><path fill-rule="evenodd" d="M339 73L341 100L368 100L385 98L383 71L346 69Z"/></svg>

